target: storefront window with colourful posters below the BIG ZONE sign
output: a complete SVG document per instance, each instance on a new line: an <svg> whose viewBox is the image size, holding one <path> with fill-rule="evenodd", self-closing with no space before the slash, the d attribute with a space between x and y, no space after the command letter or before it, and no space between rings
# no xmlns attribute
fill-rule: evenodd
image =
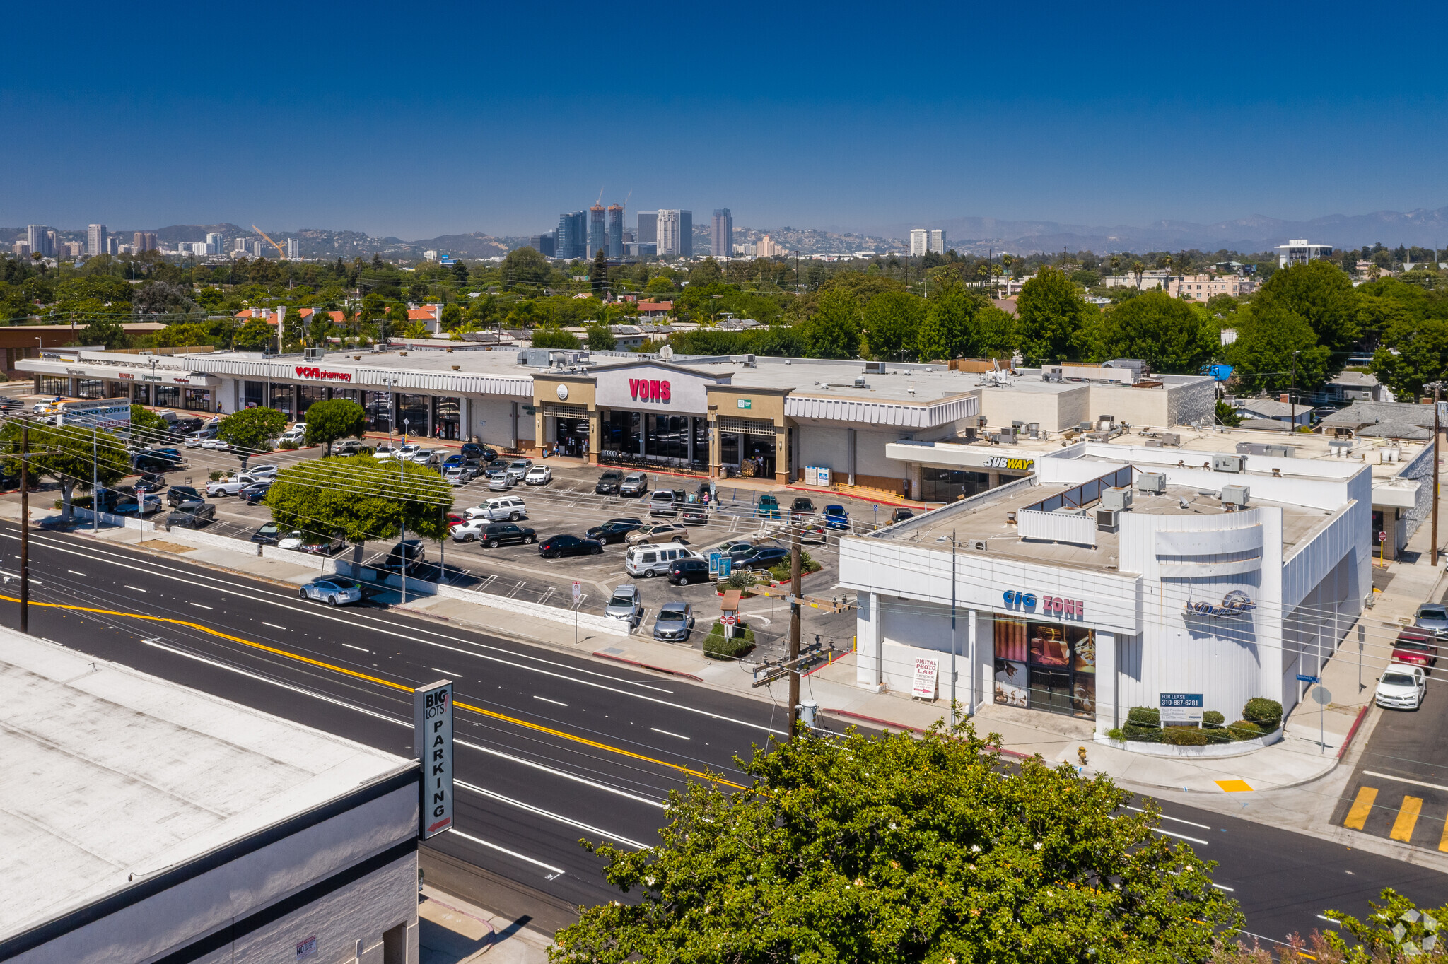
<svg viewBox="0 0 1448 964"><path fill-rule="evenodd" d="M1063 622L995 621L995 702L1096 715L1096 634Z"/></svg>

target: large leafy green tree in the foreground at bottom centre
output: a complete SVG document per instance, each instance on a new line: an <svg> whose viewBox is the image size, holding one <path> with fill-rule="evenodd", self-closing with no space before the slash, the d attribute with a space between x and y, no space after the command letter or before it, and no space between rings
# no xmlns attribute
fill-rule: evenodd
<svg viewBox="0 0 1448 964"><path fill-rule="evenodd" d="M585 909L550 960L1177 964L1241 925L1157 811L1040 757L1002 779L996 740L796 738L738 760L738 793L672 790L657 845L597 847L637 897Z"/></svg>

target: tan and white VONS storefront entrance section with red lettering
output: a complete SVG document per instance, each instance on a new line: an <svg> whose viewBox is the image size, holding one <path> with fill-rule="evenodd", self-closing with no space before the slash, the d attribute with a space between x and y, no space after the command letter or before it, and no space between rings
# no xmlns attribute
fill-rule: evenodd
<svg viewBox="0 0 1448 964"><path fill-rule="evenodd" d="M534 437L591 465L786 482L788 389L738 388L731 371L711 369L646 360L539 372Z"/></svg>

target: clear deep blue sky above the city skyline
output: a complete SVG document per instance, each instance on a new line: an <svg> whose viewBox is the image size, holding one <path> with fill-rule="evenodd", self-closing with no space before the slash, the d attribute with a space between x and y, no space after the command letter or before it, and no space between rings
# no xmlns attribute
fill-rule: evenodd
<svg viewBox="0 0 1448 964"><path fill-rule="evenodd" d="M1448 204L1434 38L1360 4L25 4L0 224L531 233ZM23 42L16 43L16 41Z"/></svg>

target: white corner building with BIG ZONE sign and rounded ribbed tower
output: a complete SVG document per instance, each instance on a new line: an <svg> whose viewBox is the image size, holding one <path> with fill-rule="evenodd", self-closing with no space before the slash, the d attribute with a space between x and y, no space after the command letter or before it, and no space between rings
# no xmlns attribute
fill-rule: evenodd
<svg viewBox="0 0 1448 964"><path fill-rule="evenodd" d="M1030 475L841 540L862 688L909 693L925 659L948 699L954 654L961 706L1067 714L1098 734L1163 693L1199 693L1228 721L1254 696L1290 709L1297 675L1318 675L1371 596L1384 514L1410 534L1431 491L1420 443L1092 436L1024 440Z"/></svg>

